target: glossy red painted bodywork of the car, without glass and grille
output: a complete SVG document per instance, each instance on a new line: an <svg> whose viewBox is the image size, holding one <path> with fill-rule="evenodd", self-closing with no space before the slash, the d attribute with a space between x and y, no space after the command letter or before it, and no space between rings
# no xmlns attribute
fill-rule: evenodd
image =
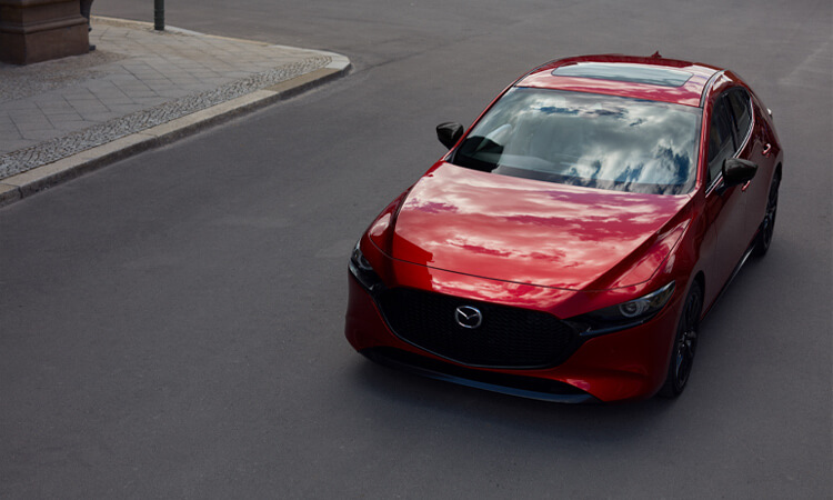
<svg viewBox="0 0 833 500"><path fill-rule="evenodd" d="M671 88L552 74L553 69L579 62L672 68L690 77ZM515 84L700 108L694 189L649 194L508 177L452 164L452 149L391 202L361 238L359 248L375 284L360 283L351 267L347 338L358 351L395 349L479 373L558 381L601 401L649 398L666 379L692 283L696 280L703 290L701 316L705 314L755 241L770 187L783 163L774 123L735 74L685 61L572 58L544 64ZM707 173L710 148L712 156L715 151L710 143L712 113L731 89L749 92L751 102L747 133L735 138L733 154L757 164L745 189L726 187L722 176ZM460 143L464 139L465 134ZM582 336L564 361L543 369L462 366L403 340L380 306L380 290L408 288L460 303L542 311L579 324L576 318L671 282L673 294L655 316L619 331ZM454 319L450 314L438 320Z"/></svg>

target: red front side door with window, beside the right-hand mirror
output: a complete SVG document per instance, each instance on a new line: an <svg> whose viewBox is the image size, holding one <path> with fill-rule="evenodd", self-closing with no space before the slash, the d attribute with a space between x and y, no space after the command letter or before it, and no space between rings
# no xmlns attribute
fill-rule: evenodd
<svg viewBox="0 0 833 500"><path fill-rule="evenodd" d="M723 182L723 161L737 157L747 139L737 138L736 130L731 103L723 92L714 101L709 121L705 207L716 244L710 261L712 279L706 280L706 297L716 296L731 278L751 238L745 218L749 186L726 187Z"/></svg>

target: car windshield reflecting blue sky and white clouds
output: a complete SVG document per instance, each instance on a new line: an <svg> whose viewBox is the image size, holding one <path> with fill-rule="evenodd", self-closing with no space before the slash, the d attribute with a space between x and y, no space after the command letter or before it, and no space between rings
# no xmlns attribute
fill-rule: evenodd
<svg viewBox="0 0 833 500"><path fill-rule="evenodd" d="M515 88L451 162L488 172L626 192L680 194L695 180L697 108Z"/></svg>

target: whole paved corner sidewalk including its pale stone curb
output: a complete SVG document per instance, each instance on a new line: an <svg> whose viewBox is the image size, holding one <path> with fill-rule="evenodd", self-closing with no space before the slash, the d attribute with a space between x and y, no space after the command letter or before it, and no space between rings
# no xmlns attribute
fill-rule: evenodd
<svg viewBox="0 0 833 500"><path fill-rule="evenodd" d="M92 18L84 56L0 63L0 206L344 74L332 52Z"/></svg>

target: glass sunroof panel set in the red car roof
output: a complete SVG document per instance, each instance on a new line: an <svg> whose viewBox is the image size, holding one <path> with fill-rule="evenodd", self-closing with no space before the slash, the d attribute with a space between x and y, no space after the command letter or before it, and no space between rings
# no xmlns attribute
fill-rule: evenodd
<svg viewBox="0 0 833 500"><path fill-rule="evenodd" d="M579 62L562 66L552 71L554 77L595 78L598 80L626 81L662 87L681 87L692 77L686 71L651 68L640 64L608 64L604 62Z"/></svg>

